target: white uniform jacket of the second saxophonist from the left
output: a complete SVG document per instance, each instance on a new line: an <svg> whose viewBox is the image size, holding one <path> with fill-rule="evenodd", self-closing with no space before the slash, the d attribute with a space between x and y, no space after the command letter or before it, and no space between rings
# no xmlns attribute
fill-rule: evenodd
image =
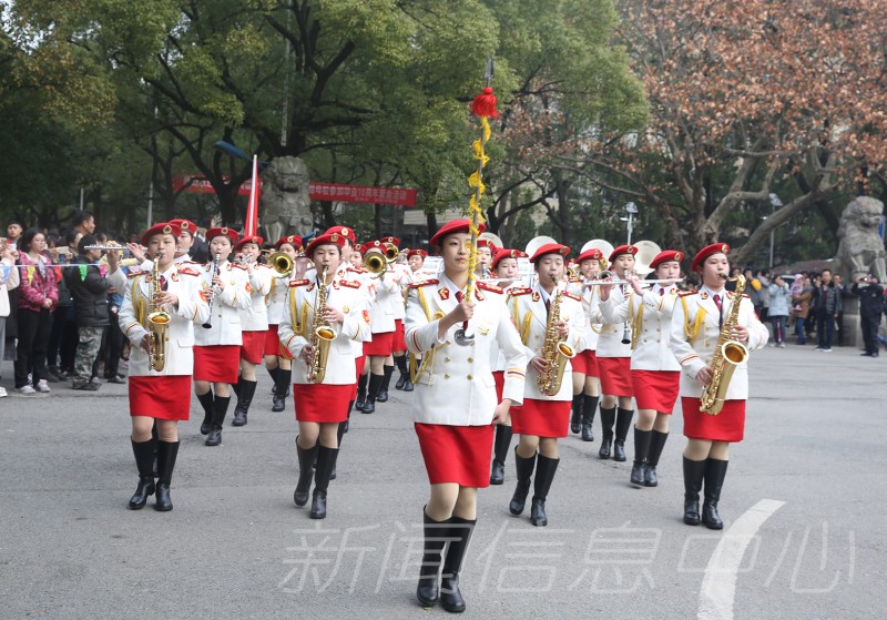
<svg viewBox="0 0 887 620"><path fill-rule="evenodd" d="M333 323L336 338L329 345L324 384L353 385L355 377L355 346L369 333L369 314L366 309L366 294L359 282L341 279L336 274L327 285L326 305L341 311L341 323ZM284 304L284 316L277 327L281 344L298 358L305 345L310 344L314 333L314 306L317 301L317 283L310 279L294 279L289 283L289 294ZM307 384L308 367L304 359L293 360L293 383Z"/></svg>

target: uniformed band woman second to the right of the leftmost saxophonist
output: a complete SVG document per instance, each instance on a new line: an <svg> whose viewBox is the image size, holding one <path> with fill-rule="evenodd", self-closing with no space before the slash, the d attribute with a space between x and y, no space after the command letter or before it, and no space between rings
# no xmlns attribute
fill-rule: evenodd
<svg viewBox="0 0 887 620"><path fill-rule="evenodd" d="M262 363L265 353L265 336L268 332L265 297L271 292L274 270L258 262L263 243L265 240L261 236L247 236L237 242L234 248L239 253L238 264L246 270L248 277L249 306L241 311L241 376L233 386L237 395L237 406L234 407L232 426L246 426L246 416L256 393L256 366Z"/></svg>

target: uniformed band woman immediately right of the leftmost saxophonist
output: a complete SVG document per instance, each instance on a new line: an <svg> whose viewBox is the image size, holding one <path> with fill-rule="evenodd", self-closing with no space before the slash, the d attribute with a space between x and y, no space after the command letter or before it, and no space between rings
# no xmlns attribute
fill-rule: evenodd
<svg viewBox="0 0 887 620"><path fill-rule="evenodd" d="M206 240L214 261L203 267L203 287L212 313L204 328L194 335L194 394L204 411L201 434L207 435L207 446L217 446L222 443L222 424L231 402L228 386L237 383L239 369L243 344L239 311L248 308L252 298L246 267L228 261L237 231L210 228Z"/></svg>

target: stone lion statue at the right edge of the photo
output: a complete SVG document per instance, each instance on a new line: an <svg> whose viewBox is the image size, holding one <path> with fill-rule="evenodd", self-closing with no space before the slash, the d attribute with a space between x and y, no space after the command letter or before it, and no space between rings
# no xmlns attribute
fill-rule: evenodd
<svg viewBox="0 0 887 620"><path fill-rule="evenodd" d="M855 278L861 274L875 274L884 282L887 275L887 254L878 226L884 220L884 203L877 199L859 196L853 200L840 215L838 226L838 254L836 272Z"/></svg>

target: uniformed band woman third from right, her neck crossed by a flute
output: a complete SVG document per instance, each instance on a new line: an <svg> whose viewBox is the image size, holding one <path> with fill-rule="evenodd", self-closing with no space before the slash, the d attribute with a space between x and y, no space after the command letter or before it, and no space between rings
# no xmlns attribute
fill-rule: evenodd
<svg viewBox="0 0 887 620"><path fill-rule="evenodd" d="M619 281L623 283L634 272L634 255L638 248L633 245L620 245L610 254L610 268ZM624 285L623 285L624 286ZM614 304L622 303L622 297L629 293L623 286L611 292ZM598 457L610 458L610 447L613 446L613 460L625 460L625 438L629 435L631 418L634 410L631 408L631 398L634 390L631 385L631 343L623 342L626 333L624 323L608 323L600 311L592 323L601 323L601 334L598 338L598 365L601 369L601 449ZM616 416L616 405L619 415ZM613 423L616 425L615 441L613 441Z"/></svg>

